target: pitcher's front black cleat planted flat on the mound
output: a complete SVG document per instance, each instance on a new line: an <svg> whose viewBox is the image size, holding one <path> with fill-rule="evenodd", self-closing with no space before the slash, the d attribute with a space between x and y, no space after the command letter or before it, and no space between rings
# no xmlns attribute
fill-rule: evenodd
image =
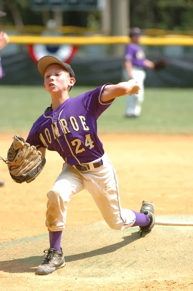
<svg viewBox="0 0 193 291"><path fill-rule="evenodd" d="M54 248L44 250L46 258L43 260L41 265L38 266L36 275L48 275L53 273L56 269L62 268L66 265L64 255L62 252Z"/></svg>

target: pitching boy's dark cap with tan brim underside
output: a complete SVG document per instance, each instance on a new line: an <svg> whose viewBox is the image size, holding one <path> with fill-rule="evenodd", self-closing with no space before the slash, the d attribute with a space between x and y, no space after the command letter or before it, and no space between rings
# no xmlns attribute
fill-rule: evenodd
<svg viewBox="0 0 193 291"><path fill-rule="evenodd" d="M70 77L75 78L74 71L72 70L72 68L71 68L71 66L69 64L62 63L58 59L56 59L56 58L54 58L52 56L45 56L45 57L41 58L37 63L37 69L38 69L38 71L40 72L40 74L42 75L43 78L44 78L44 74L45 74L46 68L49 65L52 65L52 64L62 65L65 68L65 70L67 72L69 72Z"/></svg>

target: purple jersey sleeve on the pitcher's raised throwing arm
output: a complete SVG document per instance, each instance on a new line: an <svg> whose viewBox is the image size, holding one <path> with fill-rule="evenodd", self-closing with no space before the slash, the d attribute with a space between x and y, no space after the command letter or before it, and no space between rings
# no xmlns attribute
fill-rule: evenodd
<svg viewBox="0 0 193 291"><path fill-rule="evenodd" d="M89 91L84 94L83 102L86 110L93 116L99 117L114 101L111 99L107 102L102 102L101 97L103 95L106 85L112 85L106 83L103 86L96 88L95 90Z"/></svg>

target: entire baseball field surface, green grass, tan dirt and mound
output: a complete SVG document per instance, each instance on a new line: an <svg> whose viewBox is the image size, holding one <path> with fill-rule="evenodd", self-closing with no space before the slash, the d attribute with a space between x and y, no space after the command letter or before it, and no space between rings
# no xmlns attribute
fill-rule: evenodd
<svg viewBox="0 0 193 291"><path fill-rule="evenodd" d="M75 87L71 97L91 90ZM98 134L119 179L123 208L139 211L154 201L156 217L193 220L193 89L146 88L142 114L124 117L126 97L99 117ZM0 156L14 134L27 136L51 103L42 87L1 86ZM193 290L193 226L155 226L143 238L138 228L108 229L87 191L71 197L63 251L67 265L51 275L34 274L49 247L47 192L63 161L47 152L32 183L15 183L0 162L0 285L28 290Z"/></svg>

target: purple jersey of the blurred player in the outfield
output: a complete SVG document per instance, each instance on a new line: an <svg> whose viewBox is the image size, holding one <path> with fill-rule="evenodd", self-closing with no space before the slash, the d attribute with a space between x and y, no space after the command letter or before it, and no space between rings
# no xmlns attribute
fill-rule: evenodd
<svg viewBox="0 0 193 291"><path fill-rule="evenodd" d="M133 66L145 67L144 60L145 54L140 48L140 46L130 43L125 47L125 60L128 60L132 63Z"/></svg>

